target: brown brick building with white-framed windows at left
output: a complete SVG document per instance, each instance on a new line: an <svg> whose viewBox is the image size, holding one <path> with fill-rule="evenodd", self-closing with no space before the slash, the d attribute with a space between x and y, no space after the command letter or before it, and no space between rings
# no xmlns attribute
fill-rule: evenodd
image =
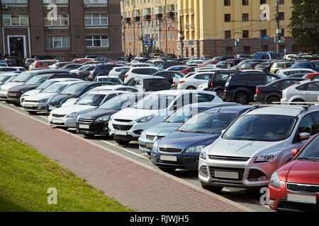
<svg viewBox="0 0 319 226"><path fill-rule="evenodd" d="M123 56L118 0L1 0L1 53Z"/></svg>

